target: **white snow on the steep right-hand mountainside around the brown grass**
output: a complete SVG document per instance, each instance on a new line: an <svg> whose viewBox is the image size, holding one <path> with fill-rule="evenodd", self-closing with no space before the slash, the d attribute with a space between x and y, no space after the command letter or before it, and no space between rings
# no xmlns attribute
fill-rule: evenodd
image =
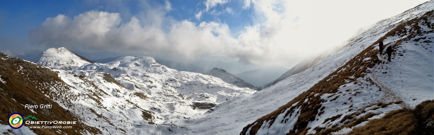
<svg viewBox="0 0 434 135"><path fill-rule="evenodd" d="M266 89L263 89L261 91L256 92L252 96L247 96L245 98L235 100L233 102L228 102L228 104L220 104L219 107L216 107L214 109L214 112L212 114L208 115L207 117L200 118L200 119L194 119L191 121L186 121L185 123L188 123L191 126L188 126L188 129L185 130L184 132L178 132L178 134L239 134L240 132L243 131L244 125L249 125L249 124L259 125L259 127L263 128L263 131L265 131L265 132L262 132L264 134L266 134L268 131L269 131L268 132L269 134L273 134L273 133L279 134L277 132L277 131L279 131L279 129L282 130L282 132L280 132L280 134L285 134L285 133L289 132L289 130L293 129L294 123L298 122L297 117L300 115L300 113L303 113L304 115L306 115L305 114L306 112L313 110L313 111L311 111L313 113L313 112L316 112L316 110L313 108L308 109L308 108L306 108L306 106L303 106L305 109L302 109L302 112L299 112L299 110L294 110L294 114L291 115L291 117L290 117L291 119L288 119L288 120L283 119L283 123L287 123L287 124L275 124L276 126L272 126L272 127L268 127L269 125L264 124L266 122L269 122L269 124L270 124L270 121L263 122L262 121L263 119L261 120L260 118L264 115L265 115L264 117L268 118L268 116L271 116L271 115L267 115L267 114L272 113L274 110L278 109L279 107L282 107L281 109L286 109L286 107L284 107L283 105L286 105L288 102L291 102L293 99L297 98L303 92L307 94L306 91L309 89L315 90L315 88L312 88L312 86L314 86L315 84L322 81L325 77L330 77L329 75L331 73L335 72L336 70L338 70L340 67L342 67L344 65L346 66L346 64L349 63L352 58L354 58L355 56L360 54L362 51L367 49L369 46L378 43L378 39L385 36L386 33L395 29L401 23L407 22L407 21L409 21L415 17L424 15L424 13L432 10L431 7L433 7L433 1L430 1L428 3L424 3L421 6L415 7L415 8L408 10L405 13L402 13L400 15L391 17L389 19L381 20L372 26L366 27L366 28L358 31L358 33L356 33L351 39L349 39L347 45L344 46L339 52L323 59L322 61L320 61L319 63L317 63L316 65L312 66L309 69L306 69L302 72L299 72L298 74L295 74L293 76L289 76L286 79L277 82L273 86L270 86ZM388 38L388 40L385 40L384 43L385 44L394 43L395 41L397 41L397 39L392 39L392 38L389 39ZM371 48L371 50L374 50L374 49L375 48ZM371 59L373 59L373 58L371 58ZM361 60L363 60L363 59L361 59ZM430 63L425 63L425 64L426 64L426 66L433 65L432 61L431 61L431 64ZM356 77L355 79L357 79L357 76L354 76L354 77ZM324 81L326 81L326 79ZM432 80L431 80L431 82L432 82ZM336 84L336 85L339 88L339 85L338 84ZM321 86L321 85L319 85L319 86ZM330 86L335 86L335 84L330 85ZM351 87L353 88L355 86L358 86L358 84L352 85ZM363 89L367 88L366 86L361 86L358 89L361 89L362 87L364 87ZM343 88L350 88L349 84ZM375 98L370 99L371 95L373 97L378 96L378 97L380 97L379 99L381 99L381 97L383 97L383 95L385 95L385 93L382 93L382 94L381 93L374 93L374 91L375 91L374 87L370 87L368 89L371 89L371 88L372 88L371 92L369 92L369 91L360 91L359 92L359 91L354 91L354 90L349 91L349 92L352 92L351 95L357 95L360 97L360 98L358 98L357 101L353 100L354 103L351 103L350 102L351 100L348 100L349 97L347 97L346 99L342 98L343 97L343 94L342 94L341 95L342 100L341 100L341 98L338 97L337 99L335 99L335 100L339 100L338 103L336 103L335 100L328 102L330 104L330 105L328 105L329 107L325 108L323 110L327 111L327 113L329 113L329 114L339 115L339 113L333 113L333 110L335 110L335 108L332 108L332 107L334 107L334 105L342 105L342 104L346 105L346 107L349 107L350 105L354 104L353 105L354 109L355 108L359 108L359 109L363 108L364 109L365 108L364 105L370 105L371 103L375 102ZM345 90L347 90L347 89L344 89L344 92L345 92ZM377 91L375 91L375 92L378 92L378 89L376 89L376 90ZM339 93L339 92L340 91L338 91L337 93ZM344 92L342 92L342 93L344 93ZM346 96L349 96L349 92L346 93ZM380 91L380 92L384 92L384 90ZM341 93L339 93L339 94L341 94ZM333 94L323 95L322 97L327 98L330 95L333 95ZM433 94L427 94L427 95L433 95ZM315 96L317 96L317 95L315 95ZM308 100L310 101L310 100L312 100L312 97L315 97L315 96L314 95L312 95L312 96L308 95L306 97L309 97L309 98L300 100L299 103L303 103L303 102L308 101ZM333 95L328 100L332 100L335 97L336 97L336 95ZM363 99L363 101L360 101L359 99ZM341 102L343 100L346 100L345 102L347 102L347 103L344 104L344 102ZM295 101L298 101L298 100L295 99ZM366 102L366 101L373 101L373 102ZM393 101L393 100L391 100L391 101ZM421 100L414 100L414 101L421 102ZM355 104L356 102L358 104ZM388 101L384 101L384 102L385 102L385 104L389 103ZM349 103L351 103L351 104L349 104ZM293 104L290 104L289 106L291 106L291 105L293 105ZM305 105L309 106L310 104L305 104ZM358 106L356 106L356 105L358 105ZM391 105L388 108L394 108L394 106L396 107L396 105ZM314 105L312 105L312 107L314 107ZM320 107L320 109L318 109L318 111L321 112L322 106L319 105L316 107ZM339 106L336 106L336 107L339 107ZM398 105L398 107L401 107L401 106ZM294 109L296 109L296 108L294 108ZM301 107L299 107L298 109L301 109ZM337 109L339 109L339 108L337 108ZM344 111L344 109L339 109L339 110ZM346 111L348 112L348 109ZM381 110L378 110L378 111L381 111ZM297 112L299 112L298 115L296 115ZM279 116L279 118L285 116L285 114L286 113L283 113L283 115ZM317 113L315 113L315 115L316 114ZM344 116L345 115L342 115L342 117L344 117ZM319 117L322 117L322 118L318 118L319 122L322 123L325 119L330 118L332 116L329 117L327 115L321 115ZM276 117L273 117L273 118L276 118ZM311 117L309 117L309 118L311 118ZM255 120L257 120L257 119L259 119L259 120L255 122ZM315 119L315 116L313 116L312 119ZM341 120L342 120L342 118L341 118ZM280 123L280 122L282 122L282 119L275 120L274 122ZM305 123L305 124L309 125L309 127L312 127L312 125L310 125L309 123ZM187 125L187 124L185 124L185 125ZM246 130L244 130L243 133L250 133L250 131L252 131L251 127L254 125L247 126L245 128ZM279 126L277 126L277 125L279 125ZM282 125L282 126L280 126L280 125ZM306 125L302 125L300 127L305 128ZM313 128L311 130L313 130ZM276 131L276 132L273 132L273 131ZM310 133L313 133L313 132L310 132Z"/></svg>

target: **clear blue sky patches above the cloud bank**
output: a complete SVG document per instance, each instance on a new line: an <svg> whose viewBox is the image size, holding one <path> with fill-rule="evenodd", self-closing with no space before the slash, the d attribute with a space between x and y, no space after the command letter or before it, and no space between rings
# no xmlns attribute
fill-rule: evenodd
<svg viewBox="0 0 434 135"><path fill-rule="evenodd" d="M112 13L121 13L122 23L127 23L132 16L138 16L140 12L145 11L142 1L138 0L1 0L0 1L0 36L3 37L4 43L25 43L30 30L37 28L47 18L64 14L66 16L76 16L80 13L97 10ZM225 5L218 5L212 9L216 12L224 12L219 15L203 13L200 20L195 18L195 14L200 9L206 8L203 0L174 0L170 1L172 10L166 16L173 17L176 20L189 20L199 24L202 21L216 21L226 23L234 31L240 30L243 26L252 24L252 9L241 9L242 1L227 1ZM165 4L164 0L147 1L152 6L161 6ZM233 13L226 13L225 10L230 8ZM14 39L8 40L7 39ZM16 41L16 39L23 39ZM36 46L38 47L38 46ZM14 51L19 48L12 47Z"/></svg>

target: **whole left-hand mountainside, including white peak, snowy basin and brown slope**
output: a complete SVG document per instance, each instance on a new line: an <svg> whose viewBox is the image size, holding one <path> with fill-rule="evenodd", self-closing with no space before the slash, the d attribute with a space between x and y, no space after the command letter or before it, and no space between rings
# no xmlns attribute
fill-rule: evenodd
<svg viewBox="0 0 434 135"><path fill-rule="evenodd" d="M74 56L68 49L52 48L45 53L42 59L39 59L39 63L63 69L40 67L35 63L2 54L4 63L13 63L16 66L2 66L11 70L4 69L9 72L0 72L5 81L0 84L0 88L9 91L9 85L24 85L23 82L33 84L34 86L26 86L46 94L46 98L61 106L58 108L79 114L75 119L79 119L82 125L96 130L83 130L81 133L172 134L177 128L181 128L173 127L180 125L180 121L204 117L222 103L255 92L252 89L239 88L214 76L179 72L146 56L124 56L105 64L81 63L78 67L82 59ZM68 58L76 63L61 63L59 58ZM57 65L59 63L61 65ZM69 65L65 66L66 64ZM40 69L49 76L39 75L38 72L42 72ZM24 81L11 82L11 76L16 75ZM26 80L25 76L55 80ZM32 115L42 114L38 111L22 111Z"/></svg>

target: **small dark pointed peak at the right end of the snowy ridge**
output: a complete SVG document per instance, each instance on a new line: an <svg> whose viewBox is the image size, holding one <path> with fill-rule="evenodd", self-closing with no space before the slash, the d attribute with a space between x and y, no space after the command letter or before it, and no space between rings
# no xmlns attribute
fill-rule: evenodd
<svg viewBox="0 0 434 135"><path fill-rule="evenodd" d="M218 77L226 82L229 82L230 84L233 84L241 88L250 88L250 89L255 88L255 86L251 85L250 83L244 82L243 79L240 79L237 76L233 76L229 72L226 72L226 70L224 69L213 68L211 69L210 72L205 72L204 74Z"/></svg>

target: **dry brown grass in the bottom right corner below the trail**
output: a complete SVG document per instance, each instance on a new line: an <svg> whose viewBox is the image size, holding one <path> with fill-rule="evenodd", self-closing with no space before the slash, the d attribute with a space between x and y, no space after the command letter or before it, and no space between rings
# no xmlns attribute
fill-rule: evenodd
<svg viewBox="0 0 434 135"><path fill-rule="evenodd" d="M402 101L390 103L378 103L378 106L386 107L392 103L399 104ZM353 116L360 115L360 112L351 115L345 115L341 123L347 119L351 122L343 126L333 126L329 128L316 128L317 134L327 135L339 131L342 128L351 128L368 120L375 114L370 113L358 119ZM399 109L388 112L380 119L373 119L366 125L353 128L350 135L433 135L433 126L428 123L434 123L434 100L427 100L417 105L413 111Z"/></svg>

